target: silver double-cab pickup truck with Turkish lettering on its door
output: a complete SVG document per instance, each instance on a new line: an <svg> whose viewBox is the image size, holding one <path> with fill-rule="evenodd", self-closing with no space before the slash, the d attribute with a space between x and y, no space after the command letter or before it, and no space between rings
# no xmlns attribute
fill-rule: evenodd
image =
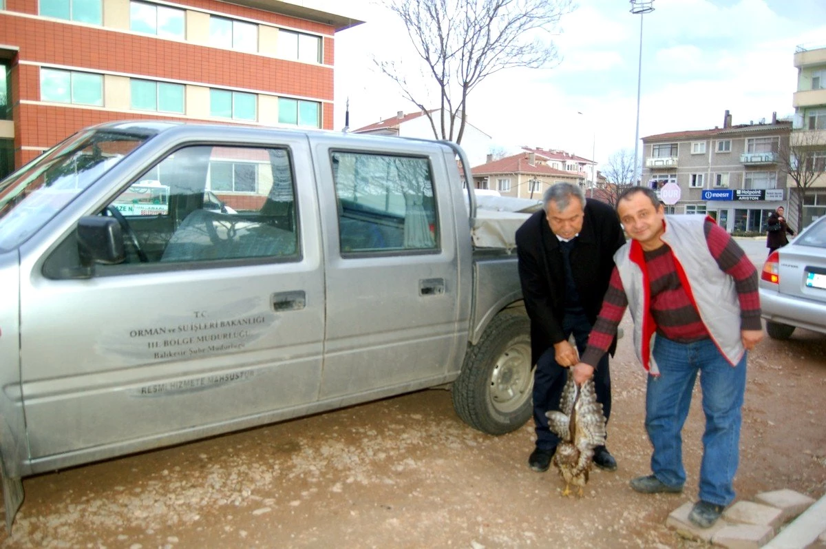
<svg viewBox="0 0 826 549"><path fill-rule="evenodd" d="M416 389L452 383L484 432L524 424L516 258L475 243L457 160L441 141L118 122L2 181L7 528L27 475Z"/></svg>

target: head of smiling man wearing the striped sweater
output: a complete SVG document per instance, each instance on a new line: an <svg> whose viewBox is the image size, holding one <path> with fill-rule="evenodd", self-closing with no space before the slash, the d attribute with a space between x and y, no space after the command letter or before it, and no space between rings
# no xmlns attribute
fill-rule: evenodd
<svg viewBox="0 0 826 549"><path fill-rule="evenodd" d="M665 230L665 208L657 193L645 187L630 187L619 194L617 215L625 232L638 241L643 250L656 250L662 246L660 236Z"/></svg>

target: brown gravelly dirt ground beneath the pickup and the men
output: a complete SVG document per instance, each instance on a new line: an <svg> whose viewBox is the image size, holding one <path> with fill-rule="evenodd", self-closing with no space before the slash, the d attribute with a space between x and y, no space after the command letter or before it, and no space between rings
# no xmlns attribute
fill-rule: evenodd
<svg viewBox="0 0 826 549"><path fill-rule="evenodd" d="M487 436L459 421L448 391L428 390L26 479L0 547L699 547L665 520L696 496L700 394L685 493L635 494L650 446L627 339L611 367L619 470L593 473L582 499L561 495L553 469L529 470L530 425ZM826 337L767 339L748 369L738 499L784 488L819 499Z"/></svg>

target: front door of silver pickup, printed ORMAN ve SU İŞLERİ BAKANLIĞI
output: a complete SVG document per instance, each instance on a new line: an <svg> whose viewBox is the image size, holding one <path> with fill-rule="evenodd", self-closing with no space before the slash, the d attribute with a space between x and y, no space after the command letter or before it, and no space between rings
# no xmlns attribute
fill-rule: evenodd
<svg viewBox="0 0 826 549"><path fill-rule="evenodd" d="M152 213L169 221L132 227L139 243L165 239L159 257L139 260L127 249L123 264L64 276L77 261L79 216L63 221L62 236L22 251L33 464L182 442L316 401L325 288L306 137L206 139L215 137L128 178L132 193L147 178L169 189L167 207ZM129 217L113 206L128 192L113 188L84 214L123 219L128 235ZM207 192L231 209L204 204ZM153 226L173 234L144 233Z"/></svg>

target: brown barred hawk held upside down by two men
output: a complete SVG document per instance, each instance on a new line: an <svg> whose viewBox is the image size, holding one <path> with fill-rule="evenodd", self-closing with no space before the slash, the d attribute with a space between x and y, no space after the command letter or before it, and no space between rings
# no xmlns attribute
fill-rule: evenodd
<svg viewBox="0 0 826 549"><path fill-rule="evenodd" d="M553 454L553 465L565 480L563 495L570 495L570 487L575 485L582 497L594 448L605 444L605 416L602 415L602 404L596 402L594 380L587 380L577 387L571 370L568 370L559 410L551 410L546 415L548 427L562 439Z"/></svg>

